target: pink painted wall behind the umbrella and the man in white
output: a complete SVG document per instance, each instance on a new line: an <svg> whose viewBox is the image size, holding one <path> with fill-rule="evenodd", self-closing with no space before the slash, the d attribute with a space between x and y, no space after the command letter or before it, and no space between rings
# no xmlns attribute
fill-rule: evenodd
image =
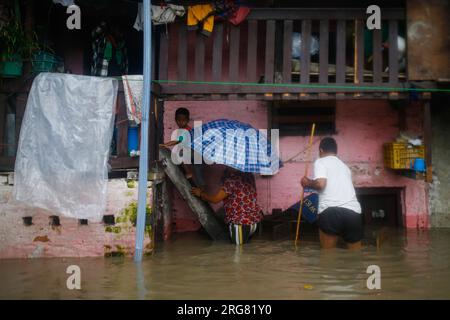
<svg viewBox="0 0 450 320"><path fill-rule="evenodd" d="M165 140L176 125L174 113L178 107L187 107L192 121L207 122L219 118L236 119L247 122L255 128L267 128L267 102L257 101L192 101L167 102L165 104ZM421 106L413 105L407 111L408 129L420 133ZM395 139L398 134L398 112L388 101L347 100L337 101L336 129L334 136L338 142L339 156L353 172L356 187L402 187L404 188L404 225L408 228L428 228L427 184L402 177L383 165L385 142ZM307 145L307 137L282 137L280 153L282 159L290 159ZM316 137L313 149L318 156ZM273 208L286 209L299 200L299 181L304 172L306 154L301 154L285 163L279 173L272 178L256 177L258 201L266 213ZM208 189L214 192L219 186L221 166L206 168ZM195 215L182 201L176 190L172 190L175 232L194 231L200 227Z"/></svg>

